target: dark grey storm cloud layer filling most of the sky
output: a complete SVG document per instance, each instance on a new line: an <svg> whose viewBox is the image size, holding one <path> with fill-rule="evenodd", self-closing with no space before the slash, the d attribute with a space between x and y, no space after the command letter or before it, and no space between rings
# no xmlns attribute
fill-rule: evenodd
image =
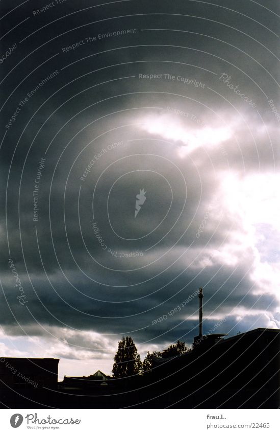
<svg viewBox="0 0 280 434"><path fill-rule="evenodd" d="M81 7L78 3L67 5L67 12L73 12ZM160 345L181 336L191 342L197 332L197 319L191 316L197 315L197 300L194 299L172 316L168 315L168 312L180 305L200 286L205 287L206 315L211 317L212 313L213 317L217 315L226 318L223 324L224 332L236 333L240 331L237 330L238 327L243 331L255 326L266 326L275 315L274 296L253 293L251 270L256 261L256 252L246 248L236 264L229 264L223 258L223 247L227 244L233 248L234 255L238 255L233 233L240 231L242 235L243 228L242 222L224 208L221 194L225 173L233 172L239 180L245 175L275 173L278 170L279 151L275 145L277 123L264 96L265 93L268 99L276 100L277 95L276 83L273 80L277 79L275 57L266 49L267 47L276 52L275 35L272 33L277 29L275 17L261 6L239 6L241 13L261 21L264 26L271 29L269 31L256 21L219 8L217 5L177 2L178 13L200 15L202 18L199 20L175 15L153 15L159 10L162 13L176 13L170 10L170 2L140 3L120 3L112 9L110 6L104 9L95 8L88 12L88 16L81 12L68 17L67 20L63 20L63 26L62 21L54 24L53 28L47 26L40 33L43 35L42 40L27 39L26 44L21 44L22 51L15 52L10 59L11 62L19 61L37 48L39 42L44 43L54 35L78 28L86 22L105 19L108 16L140 14L107 20L56 38L46 44L44 50L39 50L31 57L26 70L17 68L18 76L11 74L8 78L7 88L4 89L5 100L20 80L47 57L59 53L44 67L38 68L27 77L17 92L10 97L3 117L4 129L19 101L48 72L90 54L112 50L106 54L91 56L60 71L56 79L45 85L36 93L36 97L28 101L16 122L7 131L7 141L5 140L2 147L1 176L3 185L8 189L10 257L17 267L28 296L27 307L31 312L19 305L16 299L16 288L8 267L7 239L3 236L0 242L4 257L1 268L5 295L1 293L0 299L2 324L8 334L22 334L21 329L15 326L17 321L27 334L54 339L54 342L55 338L48 336L48 332L41 330L37 323L47 325L47 330L55 328L55 336L59 338L63 334L62 328L70 330L73 327L100 334L116 333L119 334L117 338L131 332L139 342L148 341L150 345ZM225 6L224 2L215 3ZM92 2L90 5L92 6ZM226 6L237 8L232 2L226 2ZM142 13L150 15L141 15ZM13 19L9 22L10 27ZM224 22L226 26L210 20ZM13 34L13 37L9 35L7 43L11 44L15 38L22 38L31 33L33 26L35 30L35 19L30 19L30 26L29 29L24 28L26 34ZM61 52L62 47L87 36L132 27L137 28L137 33L129 38L107 38L90 46L83 45L75 52ZM143 28L188 29L189 33L141 32ZM211 37L207 38L202 34ZM147 44L149 47L145 46ZM228 44L235 45L247 55ZM129 45L141 47L124 48ZM180 45L189 48L161 45ZM8 64L8 60L6 62L8 73L11 65L15 63ZM126 62L129 64L110 66ZM103 69L88 74L99 68ZM164 76L167 73L175 79L139 79L139 74ZM250 107L220 79L222 73L231 76L230 82L238 85L241 92L257 104L257 109ZM177 79L179 76L205 83L205 88L183 83ZM77 77L81 78L62 87ZM104 82L107 83L95 86ZM11 158L23 128L39 106L60 87L59 92L45 103L23 133L13 157L7 185ZM68 99L70 100L65 103ZM106 101L99 102L101 100ZM95 104L97 102L98 104ZM61 104L63 106L57 110ZM170 108L182 113L175 115ZM38 133L27 156L35 134L52 113L54 114ZM162 130L154 133L148 131L147 126L143 127L146 119L150 119L151 130L155 127L155 122L162 123ZM222 141L217 146L208 147L207 143L203 143L198 149L182 157L180 150L184 152L186 143L177 139L175 135L173 139L168 139L164 130L165 125L169 125L170 133L175 132L177 128L185 129L186 133L193 133L210 126L217 135L219 128L222 127L228 128L232 135L230 139ZM84 128L85 126L87 127ZM62 130L58 132L60 128ZM121 141L123 143L120 146L108 148L109 145ZM37 168L49 145L39 182L38 222L34 222L33 191ZM156 156L137 155L126 158L130 154ZM116 162L117 159L119 161ZM81 180L91 161L94 161L94 165L86 179ZM25 166L21 178L23 163ZM111 166L108 167L109 165ZM185 206L185 184L179 169L187 185ZM98 176L103 170L104 175L98 180L94 192ZM129 174L131 171L133 172ZM135 218L136 194L142 188L146 190L146 201ZM209 208L213 206L215 197L217 199L214 211L206 218L198 237L197 231ZM122 238L114 234L110 227L107 199L112 227ZM168 211L171 199L170 211L160 224ZM1 200L4 210L5 191ZM106 249L99 245L92 228L92 205L94 221ZM182 215L179 217L181 211ZM4 213L0 227L5 234ZM169 229L171 231L166 235ZM151 234L146 236L149 232ZM160 239L162 241L158 243ZM147 250L156 243L156 247ZM171 248L174 244L175 247ZM21 249L27 267L24 266ZM114 256L108 249L124 256ZM272 249L271 244L269 251ZM137 260L135 257L125 257L139 251L143 252L143 256L139 256ZM266 252L266 256L269 255L271 253ZM139 267L143 268L131 271ZM241 320L237 319L237 307L244 309L245 312ZM254 314L254 311L262 313ZM164 314L168 315L165 322L151 326L154 319ZM191 318L186 319L188 316ZM211 328L215 321L216 319L206 319L205 328ZM138 329L140 330L133 332ZM87 340L82 332L75 332L66 342L66 346L69 344L69 351L62 348L61 355L69 358L79 357L74 351L71 353L72 344L75 345L77 342L82 342L85 348L90 348L92 343L91 338ZM112 342L107 342L108 346L112 346ZM98 353L98 357L101 358L100 354Z"/></svg>

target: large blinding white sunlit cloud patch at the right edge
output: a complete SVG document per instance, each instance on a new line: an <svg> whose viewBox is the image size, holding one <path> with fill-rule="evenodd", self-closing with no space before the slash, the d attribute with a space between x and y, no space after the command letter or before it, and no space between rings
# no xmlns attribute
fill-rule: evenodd
<svg viewBox="0 0 280 434"><path fill-rule="evenodd" d="M254 257L251 279L257 284L253 293L269 292L280 300L280 258L268 254L263 261L260 245L260 238L265 237L265 248L269 253L274 248L274 238L280 236L279 185L279 174L253 174L244 178L226 174L221 188L228 215L239 228L232 236L232 244L235 244L232 246L233 256L237 260L238 254L251 249ZM262 234L262 225L266 229L269 227L270 231Z"/></svg>

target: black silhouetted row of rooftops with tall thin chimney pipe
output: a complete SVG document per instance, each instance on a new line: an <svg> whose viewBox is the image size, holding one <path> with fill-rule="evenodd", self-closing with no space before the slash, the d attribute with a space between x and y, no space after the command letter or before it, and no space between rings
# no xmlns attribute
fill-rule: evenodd
<svg viewBox="0 0 280 434"><path fill-rule="evenodd" d="M203 335L201 288L198 298L199 333L192 350L153 357L145 375L112 378L97 371L58 383L59 359L2 357L3 407L278 408L280 330Z"/></svg>

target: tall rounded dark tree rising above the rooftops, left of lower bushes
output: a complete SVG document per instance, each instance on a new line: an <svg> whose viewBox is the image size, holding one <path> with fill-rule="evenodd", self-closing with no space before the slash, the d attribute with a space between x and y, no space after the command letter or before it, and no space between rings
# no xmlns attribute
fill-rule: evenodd
<svg viewBox="0 0 280 434"><path fill-rule="evenodd" d="M126 336L122 340L119 340L114 362L112 372L115 378L139 374L142 362L131 336Z"/></svg>

